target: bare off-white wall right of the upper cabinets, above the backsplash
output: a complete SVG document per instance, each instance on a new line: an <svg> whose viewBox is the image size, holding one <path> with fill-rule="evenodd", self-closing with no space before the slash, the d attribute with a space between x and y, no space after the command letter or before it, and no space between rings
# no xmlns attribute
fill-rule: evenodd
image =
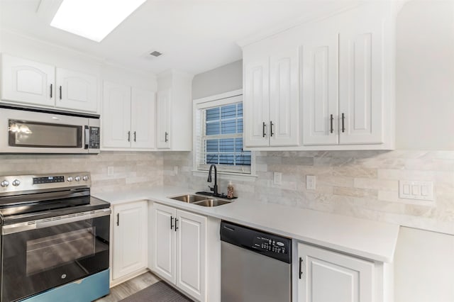
<svg viewBox="0 0 454 302"><path fill-rule="evenodd" d="M397 148L454 150L453 1L410 1L397 18Z"/></svg>

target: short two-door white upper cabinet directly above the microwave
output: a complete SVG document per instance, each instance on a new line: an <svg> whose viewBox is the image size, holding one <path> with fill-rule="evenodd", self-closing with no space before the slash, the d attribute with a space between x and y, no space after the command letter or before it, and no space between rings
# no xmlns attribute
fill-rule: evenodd
<svg viewBox="0 0 454 302"><path fill-rule="evenodd" d="M1 99L19 104L97 112L98 79L43 63L3 54Z"/></svg>

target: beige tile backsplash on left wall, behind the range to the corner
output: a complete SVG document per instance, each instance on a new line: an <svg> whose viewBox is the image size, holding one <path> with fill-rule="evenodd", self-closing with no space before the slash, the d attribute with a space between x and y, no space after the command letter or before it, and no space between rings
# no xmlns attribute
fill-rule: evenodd
<svg viewBox="0 0 454 302"><path fill-rule="evenodd" d="M111 176L108 167L112 167ZM93 193L162 185L162 152L0 155L0 175L78 171L92 174Z"/></svg>

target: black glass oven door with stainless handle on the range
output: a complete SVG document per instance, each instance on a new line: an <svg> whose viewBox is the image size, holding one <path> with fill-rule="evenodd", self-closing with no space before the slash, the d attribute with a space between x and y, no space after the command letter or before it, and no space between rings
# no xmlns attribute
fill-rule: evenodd
<svg viewBox="0 0 454 302"><path fill-rule="evenodd" d="M109 268L110 209L2 226L1 301Z"/></svg>

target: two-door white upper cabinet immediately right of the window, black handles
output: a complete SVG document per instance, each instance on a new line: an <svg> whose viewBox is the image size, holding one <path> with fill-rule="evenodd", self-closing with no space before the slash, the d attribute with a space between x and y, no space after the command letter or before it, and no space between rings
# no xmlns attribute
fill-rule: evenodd
<svg viewBox="0 0 454 302"><path fill-rule="evenodd" d="M298 48L243 51L245 147L298 145Z"/></svg>

